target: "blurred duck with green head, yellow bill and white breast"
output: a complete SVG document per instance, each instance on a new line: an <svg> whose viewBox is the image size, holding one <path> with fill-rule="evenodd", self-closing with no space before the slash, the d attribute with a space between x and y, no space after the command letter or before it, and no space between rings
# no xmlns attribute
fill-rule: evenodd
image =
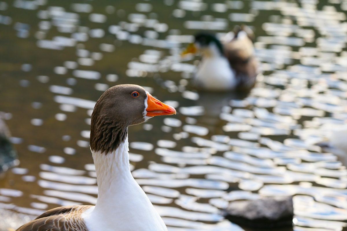
<svg viewBox="0 0 347 231"><path fill-rule="evenodd" d="M182 56L200 52L202 60L193 77L193 87L202 91L247 91L256 81L257 61L253 56L253 31L236 26L221 41L202 32L195 35Z"/></svg>

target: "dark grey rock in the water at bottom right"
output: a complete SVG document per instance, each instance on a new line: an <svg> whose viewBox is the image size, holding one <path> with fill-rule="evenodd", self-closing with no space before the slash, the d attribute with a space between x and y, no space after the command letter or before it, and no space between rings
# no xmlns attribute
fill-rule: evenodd
<svg viewBox="0 0 347 231"><path fill-rule="evenodd" d="M233 201L225 217L238 225L271 229L293 223L292 197L263 197L255 201Z"/></svg>

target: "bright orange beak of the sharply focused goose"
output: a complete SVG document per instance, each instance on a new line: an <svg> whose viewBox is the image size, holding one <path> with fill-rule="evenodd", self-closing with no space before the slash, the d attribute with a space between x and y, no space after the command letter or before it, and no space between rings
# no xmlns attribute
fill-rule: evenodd
<svg viewBox="0 0 347 231"><path fill-rule="evenodd" d="M176 115L176 109L155 99L147 93L147 114L146 116Z"/></svg>

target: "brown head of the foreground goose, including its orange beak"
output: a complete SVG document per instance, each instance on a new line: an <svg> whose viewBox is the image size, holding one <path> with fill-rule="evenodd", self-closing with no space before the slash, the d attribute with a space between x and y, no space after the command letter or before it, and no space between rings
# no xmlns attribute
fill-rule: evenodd
<svg viewBox="0 0 347 231"><path fill-rule="evenodd" d="M107 154L127 137L128 126L159 115L176 114L175 108L155 99L138 85L124 84L109 88L94 106L91 118L90 146Z"/></svg>

